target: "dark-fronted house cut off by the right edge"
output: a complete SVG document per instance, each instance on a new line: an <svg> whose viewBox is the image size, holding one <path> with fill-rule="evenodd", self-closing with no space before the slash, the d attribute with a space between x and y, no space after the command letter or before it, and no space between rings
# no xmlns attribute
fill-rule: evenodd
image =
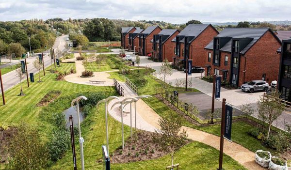
<svg viewBox="0 0 291 170"><path fill-rule="evenodd" d="M283 100L291 102L291 37L282 40L277 52L281 54L277 89Z"/></svg>

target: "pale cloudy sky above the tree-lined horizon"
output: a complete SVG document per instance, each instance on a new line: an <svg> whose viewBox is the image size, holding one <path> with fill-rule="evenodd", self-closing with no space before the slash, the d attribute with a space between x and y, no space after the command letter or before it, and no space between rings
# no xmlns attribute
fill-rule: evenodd
<svg viewBox="0 0 291 170"><path fill-rule="evenodd" d="M286 3L288 2L288 3ZM0 21L96 18L174 24L291 20L291 0L0 0Z"/></svg>

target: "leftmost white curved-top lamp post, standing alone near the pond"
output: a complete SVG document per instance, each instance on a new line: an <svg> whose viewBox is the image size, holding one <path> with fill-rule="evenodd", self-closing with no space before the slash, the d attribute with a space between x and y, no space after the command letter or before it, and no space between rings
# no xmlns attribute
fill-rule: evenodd
<svg viewBox="0 0 291 170"><path fill-rule="evenodd" d="M81 166L82 166L82 170L85 170L85 166L84 166L84 153L83 153L83 143L84 143L84 139L81 137L81 124L80 124L80 112L79 112L79 101L81 99L87 100L87 97L81 95L81 96L75 98L71 102L71 107L73 107L74 104L76 103L76 105L77 105L77 116L78 116L78 125L79 125L79 142L80 142L80 150L81 150Z"/></svg>

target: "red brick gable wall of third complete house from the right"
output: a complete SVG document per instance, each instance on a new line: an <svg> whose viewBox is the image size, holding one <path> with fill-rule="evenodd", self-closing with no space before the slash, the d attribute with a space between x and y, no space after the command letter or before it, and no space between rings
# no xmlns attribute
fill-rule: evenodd
<svg viewBox="0 0 291 170"><path fill-rule="evenodd" d="M176 47L176 43L172 42L173 38L175 38L180 32L176 31L170 38L162 46L162 61L168 59L169 62L173 62L173 58L175 57L174 48Z"/></svg>

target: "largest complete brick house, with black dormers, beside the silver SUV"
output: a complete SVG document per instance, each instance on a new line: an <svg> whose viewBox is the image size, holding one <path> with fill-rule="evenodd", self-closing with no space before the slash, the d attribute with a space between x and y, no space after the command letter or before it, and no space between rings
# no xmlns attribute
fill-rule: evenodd
<svg viewBox="0 0 291 170"><path fill-rule="evenodd" d="M205 47L206 75L222 75L234 86L276 80L280 39L269 28L226 28Z"/></svg>

